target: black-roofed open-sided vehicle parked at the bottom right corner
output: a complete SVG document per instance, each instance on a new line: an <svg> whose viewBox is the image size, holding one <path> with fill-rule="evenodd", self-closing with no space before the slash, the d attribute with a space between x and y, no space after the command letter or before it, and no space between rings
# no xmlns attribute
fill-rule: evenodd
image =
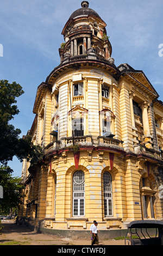
<svg viewBox="0 0 163 256"><path fill-rule="evenodd" d="M163 221L130 222L125 245L163 245Z"/></svg>

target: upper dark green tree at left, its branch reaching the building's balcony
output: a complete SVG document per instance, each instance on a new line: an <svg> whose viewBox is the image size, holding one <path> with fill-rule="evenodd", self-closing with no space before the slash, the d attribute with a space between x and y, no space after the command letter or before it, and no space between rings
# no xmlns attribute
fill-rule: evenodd
<svg viewBox="0 0 163 256"><path fill-rule="evenodd" d="M0 162L7 166L13 156L22 161L30 160L32 164L43 157L42 148L33 145L32 137L20 138L20 129L9 123L20 111L15 105L16 97L23 94L23 89L16 82L9 83L7 80L0 81Z"/></svg>

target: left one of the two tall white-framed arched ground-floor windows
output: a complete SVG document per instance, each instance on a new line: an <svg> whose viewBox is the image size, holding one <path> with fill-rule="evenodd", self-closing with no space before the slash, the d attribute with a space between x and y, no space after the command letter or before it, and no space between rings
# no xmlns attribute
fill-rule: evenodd
<svg viewBox="0 0 163 256"><path fill-rule="evenodd" d="M85 175L78 170L73 175L73 216L85 215Z"/></svg>

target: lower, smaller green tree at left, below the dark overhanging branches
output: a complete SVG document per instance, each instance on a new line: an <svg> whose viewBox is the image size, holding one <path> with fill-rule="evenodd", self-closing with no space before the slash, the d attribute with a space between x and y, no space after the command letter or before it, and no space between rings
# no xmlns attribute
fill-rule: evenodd
<svg viewBox="0 0 163 256"><path fill-rule="evenodd" d="M21 178L12 177L9 166L0 166L0 184L3 187L3 199L0 199L0 215L8 215L11 208L18 208L22 203L23 185Z"/></svg>

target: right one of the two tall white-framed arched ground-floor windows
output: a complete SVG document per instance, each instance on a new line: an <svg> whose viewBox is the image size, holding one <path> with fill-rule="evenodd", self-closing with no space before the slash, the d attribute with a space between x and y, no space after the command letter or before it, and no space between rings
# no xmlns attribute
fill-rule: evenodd
<svg viewBox="0 0 163 256"><path fill-rule="evenodd" d="M103 174L103 190L104 190L104 216L112 216L112 185L111 175L108 172Z"/></svg>

